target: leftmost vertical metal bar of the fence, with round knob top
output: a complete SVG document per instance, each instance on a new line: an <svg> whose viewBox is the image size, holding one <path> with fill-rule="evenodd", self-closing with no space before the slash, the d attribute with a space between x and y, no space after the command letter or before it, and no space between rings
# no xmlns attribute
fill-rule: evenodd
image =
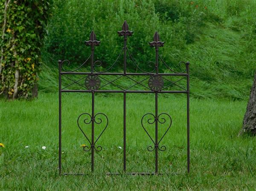
<svg viewBox="0 0 256 191"><path fill-rule="evenodd" d="M61 175L61 64L62 61L58 61L59 64L59 151L58 151L58 169L59 169L59 175Z"/></svg>

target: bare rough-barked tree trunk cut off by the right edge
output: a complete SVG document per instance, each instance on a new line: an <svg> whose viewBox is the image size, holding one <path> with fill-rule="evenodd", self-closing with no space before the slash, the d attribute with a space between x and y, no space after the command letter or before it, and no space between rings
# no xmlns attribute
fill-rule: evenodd
<svg viewBox="0 0 256 191"><path fill-rule="evenodd" d="M256 73L253 80L250 99L248 101L246 113L244 115L243 127L239 134L243 133L256 135Z"/></svg>

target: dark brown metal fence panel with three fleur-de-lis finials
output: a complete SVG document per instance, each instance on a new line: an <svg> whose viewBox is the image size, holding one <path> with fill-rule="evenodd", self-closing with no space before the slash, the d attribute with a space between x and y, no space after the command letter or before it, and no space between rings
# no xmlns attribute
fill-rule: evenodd
<svg viewBox="0 0 256 191"><path fill-rule="evenodd" d="M122 26L122 30L118 31L119 36L124 37L124 45L122 48L122 51L120 52L119 56L117 57L116 61L106 70L100 71L98 68L102 65L101 61L95 60L94 57L94 49L95 46L99 46L100 41L96 40L96 35L92 31L90 34L90 40L85 41L86 46L91 47L91 54L87 58L87 60L81 64L78 68L74 70L66 70L63 65L64 63L70 63L69 60L59 60L59 174L61 175L61 93L62 92L86 92L90 93L92 95L92 108L91 113L82 113L78 119L77 119L77 125L80 128L82 134L87 139L87 141L90 143L90 146L84 146L84 151L91 152L91 171L94 171L94 152L98 152L102 150L102 146L98 145L96 146L97 141L101 137L101 135L104 133L105 129L108 127L108 117L104 113L97 113L94 112L94 97L95 93L122 93L123 94L123 171L125 173L129 174L158 174L158 152L159 151L165 151L166 146L160 145L161 141L165 137L166 133L169 131L169 128L172 125L172 118L167 113L158 113L158 94L160 93L181 93L187 95L187 171L189 172L189 62L180 62L179 65L183 65L184 68L180 72L174 71L168 64L164 62L162 57L160 57L159 54L159 47L164 46L164 42L160 41L159 34L156 32L154 34L154 40L150 42L150 46L155 48L155 61L149 62L153 63L154 67L151 69L151 71L145 71L141 69L138 64L134 61L128 47L127 47L127 37L131 36L133 34L132 31L129 31L128 24L125 21ZM111 68L117 63L117 60L119 60L120 56L123 54L123 72L121 73L113 73L109 72ZM134 64L137 70L140 71L140 73L128 73L127 72L127 58L131 59L131 62ZM82 68L82 66L87 63L87 61L90 59L90 72L79 72L78 70ZM159 63L162 63L162 65L167 68L170 73L159 73ZM182 67L181 67L182 68ZM73 80L70 75L81 75L82 77L79 80ZM113 76L115 77L113 80L108 80L105 78L105 76ZM143 80L134 80L132 76L140 76L145 77ZM176 76L180 77L178 80L172 81L169 80L168 77ZM62 87L62 77L67 78L72 83L69 85ZM126 78L127 80L131 80L134 84L129 87L123 87L118 83L117 80L121 78ZM80 81L84 80L84 84L81 84ZM105 82L105 84L102 84L102 80ZM182 80L186 80L185 86L179 85L178 83ZM145 85L145 82L148 81L148 83ZM70 89L73 84L79 85L80 89ZM115 87L114 89L106 89L106 86L111 85L112 87ZM135 86L143 87L143 90L133 90L132 88ZM175 86L179 88L180 90L172 90L172 87ZM69 89L68 89L69 88ZM145 114L141 119L141 125L142 128L145 130L145 133L148 135L148 137L151 139L154 146L148 146L148 151L154 151L155 152L155 171L154 173L150 172L126 172L126 94L128 93L152 93L155 95L155 111L154 114L147 113ZM91 137L88 137L86 135L86 132L84 132L79 125L79 120L84 117L84 120L82 120L85 124L91 125ZM94 135L94 126L97 124L102 123L102 117L106 120L106 125L103 131L99 134L99 136L95 139ZM149 117L148 120L146 120L149 124L155 125L155 135L154 137L151 137L148 131L145 128L145 117ZM167 124L167 130L163 134L162 137L158 137L158 125L166 123L166 117L170 121L169 124ZM143 120L144 119L144 120ZM116 174L116 173L115 173Z"/></svg>

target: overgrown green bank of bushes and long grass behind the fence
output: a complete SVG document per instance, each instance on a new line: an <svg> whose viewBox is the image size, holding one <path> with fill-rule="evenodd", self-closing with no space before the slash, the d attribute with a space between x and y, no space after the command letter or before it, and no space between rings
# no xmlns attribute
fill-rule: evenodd
<svg viewBox="0 0 256 191"><path fill-rule="evenodd" d="M179 61L190 61L194 97L245 99L256 60L256 2L246 2L56 0L43 51L44 66L51 70L49 74L47 70L41 74L40 88L44 91L57 88L44 83L57 80L50 73L57 72L57 60L69 59L73 67L85 61L90 49L85 47L84 40L89 39L92 29L102 41L96 47L96 59L102 61L104 68L111 66L122 48L123 39L116 31L127 20L134 31L128 38L128 48L141 68L148 69L148 61L154 61L154 50L148 42L158 31L160 39L165 41L160 48L161 57L171 68L180 70ZM122 63L114 69L122 70ZM129 59L128 70L135 70Z"/></svg>

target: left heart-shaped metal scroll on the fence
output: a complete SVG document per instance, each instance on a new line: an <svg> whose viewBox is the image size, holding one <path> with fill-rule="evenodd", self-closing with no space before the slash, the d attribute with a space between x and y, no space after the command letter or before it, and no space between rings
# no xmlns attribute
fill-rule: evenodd
<svg viewBox="0 0 256 191"><path fill-rule="evenodd" d="M97 117L98 116L98 117ZM102 132L99 134L98 138L96 139L96 141L94 141L94 144L91 143L91 141L89 140L89 138L87 137L87 135L84 133L83 129L81 128L81 126L79 125L79 120L81 117L84 117L85 119L83 120L84 124L90 124L94 121L95 124L101 124L102 123L102 118L100 116L103 116L106 118L107 122L105 127L103 128ZM93 147L93 149L95 151L101 151L102 150L102 146L97 146L95 148L95 144L96 142L99 140L99 137L102 136L103 132L106 130L106 128L108 127L108 117L103 114L103 113L98 113L94 116L94 118L92 118L92 116L88 113L83 113L81 115L79 115L79 117L77 118L77 125L79 127L79 129L81 130L81 132L84 134L84 137L88 140L88 142L90 143L90 148L88 146L83 146L84 151L90 151L91 148Z"/></svg>

